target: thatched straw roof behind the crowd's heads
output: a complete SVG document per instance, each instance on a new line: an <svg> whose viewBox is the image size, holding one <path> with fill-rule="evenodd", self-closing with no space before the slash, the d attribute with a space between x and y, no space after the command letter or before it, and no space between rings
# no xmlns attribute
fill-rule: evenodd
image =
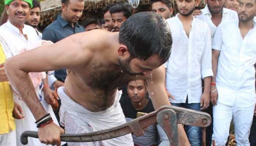
<svg viewBox="0 0 256 146"><path fill-rule="evenodd" d="M101 9L112 3L125 3L126 0L84 0L86 11ZM149 4L150 0L140 0L140 5ZM55 15L61 12L61 0L44 0L41 1L41 24L51 23Z"/></svg>

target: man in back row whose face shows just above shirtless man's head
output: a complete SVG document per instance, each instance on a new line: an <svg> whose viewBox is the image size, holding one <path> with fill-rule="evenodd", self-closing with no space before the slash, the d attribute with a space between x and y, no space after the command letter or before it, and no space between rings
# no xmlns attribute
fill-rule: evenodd
<svg viewBox="0 0 256 146"><path fill-rule="evenodd" d="M150 0L151 11L161 15L163 18L171 18L173 14L172 2L170 0Z"/></svg>

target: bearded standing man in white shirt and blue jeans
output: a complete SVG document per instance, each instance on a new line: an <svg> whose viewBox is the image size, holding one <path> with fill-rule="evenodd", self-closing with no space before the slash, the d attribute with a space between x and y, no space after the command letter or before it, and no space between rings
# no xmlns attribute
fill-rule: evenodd
<svg viewBox="0 0 256 146"><path fill-rule="evenodd" d="M200 111L209 106L211 34L208 25L193 17L199 0L176 0L179 13L167 23L173 37L172 54L165 64L166 89L174 106ZM202 94L202 79L204 90ZM201 146L201 129L186 126L191 146Z"/></svg>

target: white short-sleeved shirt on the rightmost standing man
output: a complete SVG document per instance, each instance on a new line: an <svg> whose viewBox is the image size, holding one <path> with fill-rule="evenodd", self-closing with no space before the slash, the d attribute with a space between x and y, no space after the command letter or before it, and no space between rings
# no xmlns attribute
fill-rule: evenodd
<svg viewBox="0 0 256 146"><path fill-rule="evenodd" d="M219 50L216 75L218 102L237 107L255 104L256 23L242 39L239 20L219 24L212 49Z"/></svg>

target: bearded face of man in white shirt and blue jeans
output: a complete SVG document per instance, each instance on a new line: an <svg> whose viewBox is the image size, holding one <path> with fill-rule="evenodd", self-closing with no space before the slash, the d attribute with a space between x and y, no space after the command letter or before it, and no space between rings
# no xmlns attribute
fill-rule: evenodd
<svg viewBox="0 0 256 146"><path fill-rule="evenodd" d="M176 0L178 10L183 16L190 16L193 14L195 7L199 4L198 0Z"/></svg>

